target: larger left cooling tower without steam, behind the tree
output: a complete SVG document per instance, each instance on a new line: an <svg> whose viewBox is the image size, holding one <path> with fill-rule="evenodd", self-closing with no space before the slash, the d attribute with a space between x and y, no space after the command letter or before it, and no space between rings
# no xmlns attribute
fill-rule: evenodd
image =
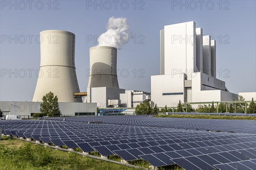
<svg viewBox="0 0 256 170"><path fill-rule="evenodd" d="M58 102L82 102L75 68L75 34L61 30L40 33L41 63L33 102L51 91Z"/></svg>

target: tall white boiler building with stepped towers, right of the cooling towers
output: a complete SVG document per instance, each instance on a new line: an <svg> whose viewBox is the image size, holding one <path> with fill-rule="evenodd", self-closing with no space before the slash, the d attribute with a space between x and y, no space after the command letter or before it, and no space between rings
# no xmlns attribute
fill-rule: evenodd
<svg viewBox="0 0 256 170"><path fill-rule="evenodd" d="M195 22L160 30L160 75L151 76L153 106L175 107L181 102L234 100L224 81L216 78L216 43Z"/></svg>

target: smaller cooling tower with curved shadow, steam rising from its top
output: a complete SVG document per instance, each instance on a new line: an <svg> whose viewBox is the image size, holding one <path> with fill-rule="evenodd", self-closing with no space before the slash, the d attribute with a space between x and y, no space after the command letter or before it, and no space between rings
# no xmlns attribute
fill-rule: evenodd
<svg viewBox="0 0 256 170"><path fill-rule="evenodd" d="M109 46L90 48L90 76L88 88L119 88L116 73L117 49Z"/></svg>

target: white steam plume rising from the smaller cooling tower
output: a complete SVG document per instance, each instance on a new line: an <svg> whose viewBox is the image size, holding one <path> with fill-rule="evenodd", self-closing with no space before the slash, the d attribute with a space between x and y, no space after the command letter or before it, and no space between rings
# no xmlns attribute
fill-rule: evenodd
<svg viewBox="0 0 256 170"><path fill-rule="evenodd" d="M97 46L111 46L120 50L123 45L128 43L129 37L126 31L128 31L129 25L126 18L110 17L106 29L107 31L99 36Z"/></svg>

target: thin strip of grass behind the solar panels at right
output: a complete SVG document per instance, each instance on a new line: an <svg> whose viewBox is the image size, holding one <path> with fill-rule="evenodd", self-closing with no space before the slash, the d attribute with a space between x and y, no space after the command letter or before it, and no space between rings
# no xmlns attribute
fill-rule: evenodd
<svg viewBox="0 0 256 170"><path fill-rule="evenodd" d="M207 113L205 113L207 114ZM226 115L180 115L180 114L169 114L169 115L156 115L155 117L166 117L166 118L193 118L193 119L237 119L237 120L256 120L256 116L226 116Z"/></svg>

